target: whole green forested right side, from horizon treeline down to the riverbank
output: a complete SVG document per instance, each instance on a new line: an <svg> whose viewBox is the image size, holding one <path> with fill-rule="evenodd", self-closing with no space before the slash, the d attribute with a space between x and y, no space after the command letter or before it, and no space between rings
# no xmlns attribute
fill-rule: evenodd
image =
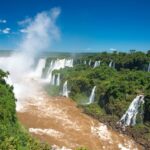
<svg viewBox="0 0 150 150"><path fill-rule="evenodd" d="M51 58L48 58L47 62L50 61ZM100 66L94 68L95 61L101 61ZM150 139L149 63L150 51L103 52L80 56L74 59L73 68L53 71L53 74L60 73L61 85L50 86L48 90L50 94L58 95L67 80L69 97L75 100L85 113L112 126L116 126L116 122L126 112L132 100L137 95L143 94L145 103L137 115L136 126L128 127L127 130L133 137L140 135L144 140L143 143L147 144ZM87 105L94 86L96 86L95 101Z"/></svg>

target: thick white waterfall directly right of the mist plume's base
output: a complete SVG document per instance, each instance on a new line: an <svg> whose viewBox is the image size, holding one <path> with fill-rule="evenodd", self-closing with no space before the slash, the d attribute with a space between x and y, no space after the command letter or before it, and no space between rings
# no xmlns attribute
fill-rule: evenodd
<svg viewBox="0 0 150 150"><path fill-rule="evenodd" d="M40 59L38 62L38 65L35 70L35 76L36 77L42 77L43 74L43 69L45 68L46 60L45 59Z"/></svg>

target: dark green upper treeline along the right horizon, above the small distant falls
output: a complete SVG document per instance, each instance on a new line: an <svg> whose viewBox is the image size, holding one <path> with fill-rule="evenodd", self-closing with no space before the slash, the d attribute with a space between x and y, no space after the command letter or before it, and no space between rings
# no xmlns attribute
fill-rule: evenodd
<svg viewBox="0 0 150 150"><path fill-rule="evenodd" d="M83 64L85 61L89 65L94 66L95 61L101 61L102 65L109 65L112 61L116 70L135 69L147 71L150 63L150 50L147 53L131 51L131 53L117 52L113 53L102 52L99 54L85 56L75 60L75 64Z"/></svg>

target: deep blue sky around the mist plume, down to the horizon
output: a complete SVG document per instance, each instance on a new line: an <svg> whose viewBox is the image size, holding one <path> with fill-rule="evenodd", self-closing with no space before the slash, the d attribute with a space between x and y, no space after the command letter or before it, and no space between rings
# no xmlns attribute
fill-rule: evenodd
<svg viewBox="0 0 150 150"><path fill-rule="evenodd" d="M59 7L52 51L150 49L150 0L0 0L0 49L15 49L18 22Z"/></svg>

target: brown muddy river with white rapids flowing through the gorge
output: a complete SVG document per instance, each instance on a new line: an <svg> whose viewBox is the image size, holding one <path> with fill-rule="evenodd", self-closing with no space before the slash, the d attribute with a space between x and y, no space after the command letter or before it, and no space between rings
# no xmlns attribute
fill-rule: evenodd
<svg viewBox="0 0 150 150"><path fill-rule="evenodd" d="M65 97L39 92L26 101L17 115L33 136L65 150L81 146L89 150L142 149L129 137L82 113L75 102Z"/></svg>

